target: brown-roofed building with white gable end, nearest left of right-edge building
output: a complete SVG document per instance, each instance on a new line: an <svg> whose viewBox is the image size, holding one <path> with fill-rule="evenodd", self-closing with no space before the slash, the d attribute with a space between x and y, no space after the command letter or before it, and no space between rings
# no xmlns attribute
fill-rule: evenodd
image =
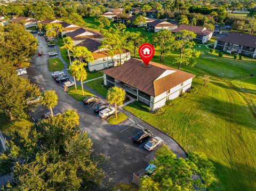
<svg viewBox="0 0 256 191"><path fill-rule="evenodd" d="M181 30L188 30L196 34L195 40L201 41L203 44L212 38L213 31L206 29L205 27L190 26L181 24L177 29L172 30L173 33Z"/></svg>

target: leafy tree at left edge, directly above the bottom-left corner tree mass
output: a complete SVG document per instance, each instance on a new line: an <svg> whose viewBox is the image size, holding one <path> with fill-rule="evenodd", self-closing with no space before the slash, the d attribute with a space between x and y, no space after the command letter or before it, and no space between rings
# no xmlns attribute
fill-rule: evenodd
<svg viewBox="0 0 256 191"><path fill-rule="evenodd" d="M9 60L0 59L0 113L7 119L25 117L29 99L39 96L39 89L29 80L18 77Z"/></svg>

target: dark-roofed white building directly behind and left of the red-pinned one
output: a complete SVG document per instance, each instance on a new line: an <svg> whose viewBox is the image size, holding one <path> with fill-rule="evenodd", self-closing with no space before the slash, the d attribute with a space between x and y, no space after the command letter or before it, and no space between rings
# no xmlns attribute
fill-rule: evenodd
<svg viewBox="0 0 256 191"><path fill-rule="evenodd" d="M101 43L98 40L93 40L91 38L86 38L81 43L76 46L84 46L90 52L92 52L92 56L94 61L89 62L87 67L90 71L94 70L102 70L109 67L115 67L120 65L120 57L119 53L115 53L114 56L111 56L107 49L99 49ZM123 49L123 54L121 54L121 64L131 58L131 53L127 49Z"/></svg>

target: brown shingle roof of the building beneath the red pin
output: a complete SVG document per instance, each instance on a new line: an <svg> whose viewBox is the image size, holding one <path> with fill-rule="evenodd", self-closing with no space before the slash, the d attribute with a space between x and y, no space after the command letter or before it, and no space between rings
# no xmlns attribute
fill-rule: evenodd
<svg viewBox="0 0 256 191"><path fill-rule="evenodd" d="M142 67L141 62L139 59L130 59L118 67L108 68L102 72L154 97L195 77L194 74L155 62L150 62L151 67ZM157 79L167 70L174 72Z"/></svg>

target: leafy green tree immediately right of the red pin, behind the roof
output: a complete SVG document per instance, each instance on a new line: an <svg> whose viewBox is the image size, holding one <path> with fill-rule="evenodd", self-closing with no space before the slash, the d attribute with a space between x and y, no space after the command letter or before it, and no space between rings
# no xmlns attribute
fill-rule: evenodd
<svg viewBox="0 0 256 191"><path fill-rule="evenodd" d="M160 49L160 61L164 61L164 56L170 54L174 40L172 32L167 29L153 34L152 43Z"/></svg>

